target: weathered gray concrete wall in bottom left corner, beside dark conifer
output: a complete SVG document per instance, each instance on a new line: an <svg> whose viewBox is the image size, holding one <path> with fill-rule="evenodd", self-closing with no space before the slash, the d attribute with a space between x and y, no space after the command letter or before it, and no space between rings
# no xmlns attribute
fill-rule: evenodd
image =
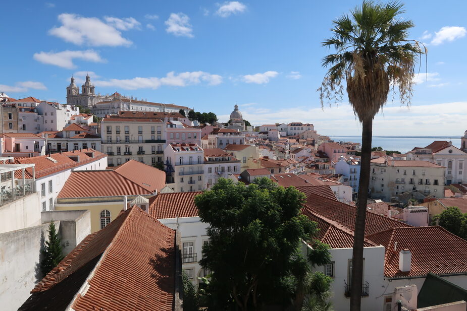
<svg viewBox="0 0 467 311"><path fill-rule="evenodd" d="M0 309L17 310L42 278L40 249L47 238L48 224L0 234Z"/></svg>

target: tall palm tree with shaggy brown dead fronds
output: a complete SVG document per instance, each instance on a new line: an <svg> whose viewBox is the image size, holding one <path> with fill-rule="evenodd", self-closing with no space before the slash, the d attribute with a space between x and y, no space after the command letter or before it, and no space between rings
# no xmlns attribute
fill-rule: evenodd
<svg viewBox="0 0 467 311"><path fill-rule="evenodd" d="M336 52L322 61L322 66L329 69L318 89L321 104L341 101L345 83L348 100L362 123L351 311L360 309L373 118L386 103L391 89L398 92L402 105L410 104L415 64L426 52L420 42L407 38L408 30L414 25L410 20L401 19L402 13L403 5L398 2L364 1L350 15L333 21L333 36L323 42L323 46Z"/></svg>

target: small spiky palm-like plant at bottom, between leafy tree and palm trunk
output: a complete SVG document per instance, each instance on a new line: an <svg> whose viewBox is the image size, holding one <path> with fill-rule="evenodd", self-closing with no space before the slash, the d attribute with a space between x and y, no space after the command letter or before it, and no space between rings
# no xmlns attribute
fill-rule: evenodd
<svg viewBox="0 0 467 311"><path fill-rule="evenodd" d="M331 298L332 278L322 272L309 272L306 276L306 290L302 311L332 311Z"/></svg>

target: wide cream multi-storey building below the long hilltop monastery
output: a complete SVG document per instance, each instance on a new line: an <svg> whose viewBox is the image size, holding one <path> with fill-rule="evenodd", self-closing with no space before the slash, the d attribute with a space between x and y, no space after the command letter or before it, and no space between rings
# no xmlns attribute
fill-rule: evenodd
<svg viewBox="0 0 467 311"><path fill-rule="evenodd" d="M166 127L161 119L108 116L101 121L100 130L109 166L129 160L148 165L164 161Z"/></svg>

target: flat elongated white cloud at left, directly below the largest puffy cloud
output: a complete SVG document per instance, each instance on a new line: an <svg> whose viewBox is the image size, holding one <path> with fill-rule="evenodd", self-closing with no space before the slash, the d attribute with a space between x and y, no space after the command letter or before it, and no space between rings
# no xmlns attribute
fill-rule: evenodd
<svg viewBox="0 0 467 311"><path fill-rule="evenodd" d="M106 60L102 59L100 55L93 50L85 51L62 51L62 52L39 52L34 53L33 58L40 61L42 64L55 65L66 69L76 68L73 64L73 59L78 58L93 63L103 63Z"/></svg>

